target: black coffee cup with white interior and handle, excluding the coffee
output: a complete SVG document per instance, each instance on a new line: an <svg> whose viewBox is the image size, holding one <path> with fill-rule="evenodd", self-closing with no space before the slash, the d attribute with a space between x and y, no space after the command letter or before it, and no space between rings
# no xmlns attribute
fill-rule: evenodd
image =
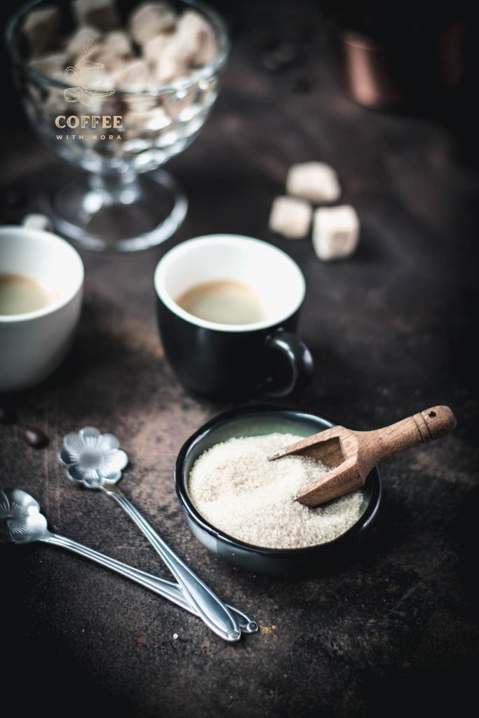
<svg viewBox="0 0 479 718"><path fill-rule="evenodd" d="M259 295L264 318L219 324L185 311L177 299L198 284L240 281ZM312 376L312 357L294 334L305 294L297 264L273 245L210 235L167 252L154 273L164 352L180 381L213 398L288 396Z"/></svg>

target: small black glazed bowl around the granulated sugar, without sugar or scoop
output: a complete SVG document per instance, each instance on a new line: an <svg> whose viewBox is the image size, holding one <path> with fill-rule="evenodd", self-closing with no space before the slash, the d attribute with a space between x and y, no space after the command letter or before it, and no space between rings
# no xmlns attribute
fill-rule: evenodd
<svg viewBox="0 0 479 718"><path fill-rule="evenodd" d="M201 515L192 500L189 481L195 462L217 444L238 437L294 434L307 437L333 426L317 414L274 406L248 406L226 411L210 419L192 434L177 457L175 485L193 535L218 559L254 573L280 577L314 575L343 561L360 544L370 528L381 501L381 479L377 468L368 475L359 497L358 518L330 541L300 548L267 548L228 535ZM276 462L273 462L276 463ZM235 512L231 505L231 512Z"/></svg>

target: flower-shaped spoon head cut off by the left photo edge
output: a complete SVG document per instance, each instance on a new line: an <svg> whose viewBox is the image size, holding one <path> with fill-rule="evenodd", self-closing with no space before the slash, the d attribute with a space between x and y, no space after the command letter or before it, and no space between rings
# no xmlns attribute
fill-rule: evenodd
<svg viewBox="0 0 479 718"><path fill-rule="evenodd" d="M48 534L39 503L19 489L0 490L0 543L28 544Z"/></svg>

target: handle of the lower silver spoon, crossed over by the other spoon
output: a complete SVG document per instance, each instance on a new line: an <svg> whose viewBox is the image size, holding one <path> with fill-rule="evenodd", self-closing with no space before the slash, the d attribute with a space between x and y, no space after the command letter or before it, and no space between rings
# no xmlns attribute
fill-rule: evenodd
<svg viewBox="0 0 479 718"><path fill-rule="evenodd" d="M161 579L157 576L153 576L152 574L148 574L147 572L141 571L140 569L135 569L128 564L124 564L122 561L116 561L116 559L111 559L110 556L105 556L105 554L101 554L99 551L90 549L88 548L88 546L78 544L77 541L72 541L71 538L66 538L66 536L58 536L56 533L52 533L45 538L41 538L40 541L45 544L61 546L62 549L68 549L69 551L73 551L75 554L80 554L80 556L84 556L86 559L95 561L97 564L100 564L107 569L111 569L111 571L114 571L121 576L129 578L131 579L131 581L140 584L144 588L147 588L150 591L157 593L159 596L162 596L163 598L166 598L172 603L175 603L177 606L180 606L180 608L184 608L186 611L189 611L193 615L198 615L197 610L195 610L195 608L190 605L189 602L187 602L185 595L182 593L180 587L178 587L177 584L174 584L171 581L167 581L166 579ZM246 615L246 613L243 613L234 606L228 606L228 608L231 610L233 615L236 615L236 618L238 619L238 624L241 630L244 631L244 633L254 633L256 630L258 630L256 622L251 617Z"/></svg>

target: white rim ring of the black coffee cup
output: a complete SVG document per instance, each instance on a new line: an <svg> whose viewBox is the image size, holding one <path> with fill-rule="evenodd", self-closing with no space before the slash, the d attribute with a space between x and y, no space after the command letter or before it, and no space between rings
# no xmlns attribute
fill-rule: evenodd
<svg viewBox="0 0 479 718"><path fill-rule="evenodd" d="M175 299L170 296L166 288L165 279L169 266L179 256L181 256L182 254L186 254L192 246L198 246L200 244L207 245L209 243L216 243L218 241L222 245L229 244L230 246L240 246L241 248L244 248L247 243L249 243L250 246L261 246L262 248L266 248L267 251L275 253L276 256L281 256L283 259L286 259L289 262L292 271L294 271L294 273L296 274L297 279L301 285L299 299L297 300L297 302L295 302L294 305L289 308L287 313L280 315L274 320L271 320L271 318L269 318L266 320L262 320L261 322L252 322L251 324L232 325L221 324L220 322L210 322L208 320L204 320L200 317L195 316L195 314L190 314L190 312L187 312L185 309L182 309L182 307L180 307L180 305L175 302ZM289 254L282 251L282 249L279 249L278 247L274 246L274 244L265 242L261 239L256 239L254 237L248 237L240 234L217 233L202 235L200 237L188 239L185 242L181 242L180 244L177 244L177 246L167 251L167 253L164 254L164 256L162 256L162 258L159 260L156 269L154 270L154 289L157 294L157 297L161 300L161 302L163 302L163 304L171 312L173 312L173 314L176 314L177 317L181 317L181 319L185 320L186 322L196 325L197 327L203 327L203 329L209 329L218 332L238 333L254 332L258 330L269 329L270 327L281 325L283 322L287 321L289 317L292 317L293 314L298 311L299 307L301 307L302 303L304 302L304 296L306 294L306 280L304 279L304 275L302 274L301 269L299 269L299 266L294 261L294 259L292 259Z"/></svg>

